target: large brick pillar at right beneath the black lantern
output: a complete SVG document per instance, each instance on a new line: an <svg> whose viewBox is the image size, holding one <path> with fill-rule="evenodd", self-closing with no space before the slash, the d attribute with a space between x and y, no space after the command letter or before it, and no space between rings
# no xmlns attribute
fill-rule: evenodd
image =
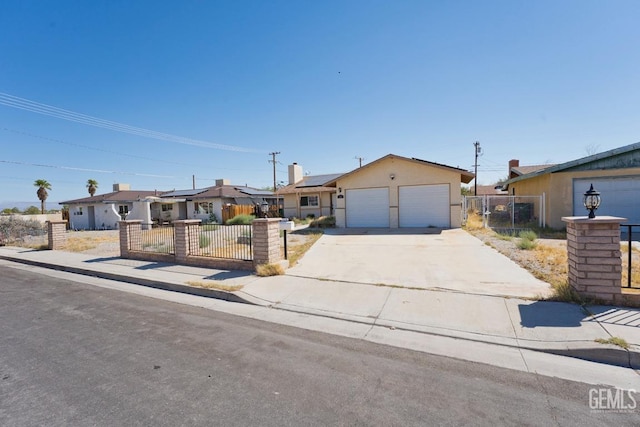
<svg viewBox="0 0 640 427"><path fill-rule="evenodd" d="M569 284L580 295L606 302L622 300L620 223L626 218L563 217L567 223Z"/></svg>

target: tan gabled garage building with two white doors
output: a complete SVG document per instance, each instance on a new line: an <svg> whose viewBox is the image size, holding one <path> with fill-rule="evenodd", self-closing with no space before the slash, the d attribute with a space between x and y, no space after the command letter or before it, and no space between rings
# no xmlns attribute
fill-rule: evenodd
<svg viewBox="0 0 640 427"><path fill-rule="evenodd" d="M472 172L389 154L324 185L337 189L337 227L461 225L461 185Z"/></svg>

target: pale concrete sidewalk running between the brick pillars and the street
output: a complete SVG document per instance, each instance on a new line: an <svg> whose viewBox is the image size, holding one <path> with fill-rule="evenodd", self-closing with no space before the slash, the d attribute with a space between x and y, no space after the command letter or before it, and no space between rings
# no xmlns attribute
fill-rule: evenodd
<svg viewBox="0 0 640 427"><path fill-rule="evenodd" d="M0 259L349 321L395 331L398 335L420 334L431 337L429 340L434 343L438 337L451 337L498 345L505 352L507 349L534 350L640 369L638 309L582 308L574 304L455 290L408 289L293 275L261 278L249 272L16 247L0 247ZM225 292L194 287L189 282L213 283L225 289L242 288ZM630 345L629 349L595 341L611 337L623 338Z"/></svg>

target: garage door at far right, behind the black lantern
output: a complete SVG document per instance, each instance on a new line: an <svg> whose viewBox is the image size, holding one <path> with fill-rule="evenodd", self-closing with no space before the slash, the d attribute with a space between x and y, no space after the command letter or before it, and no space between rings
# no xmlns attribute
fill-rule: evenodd
<svg viewBox="0 0 640 427"><path fill-rule="evenodd" d="M573 181L573 214L588 215L582 204L584 193L593 188L602 199L596 216L611 215L627 218L630 224L640 224L640 177L575 179Z"/></svg>

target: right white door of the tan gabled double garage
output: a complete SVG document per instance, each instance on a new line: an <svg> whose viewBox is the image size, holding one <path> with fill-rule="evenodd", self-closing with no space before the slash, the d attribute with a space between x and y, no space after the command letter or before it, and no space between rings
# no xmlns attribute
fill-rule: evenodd
<svg viewBox="0 0 640 427"><path fill-rule="evenodd" d="M400 227L451 227L449 185L412 185L399 188Z"/></svg>

